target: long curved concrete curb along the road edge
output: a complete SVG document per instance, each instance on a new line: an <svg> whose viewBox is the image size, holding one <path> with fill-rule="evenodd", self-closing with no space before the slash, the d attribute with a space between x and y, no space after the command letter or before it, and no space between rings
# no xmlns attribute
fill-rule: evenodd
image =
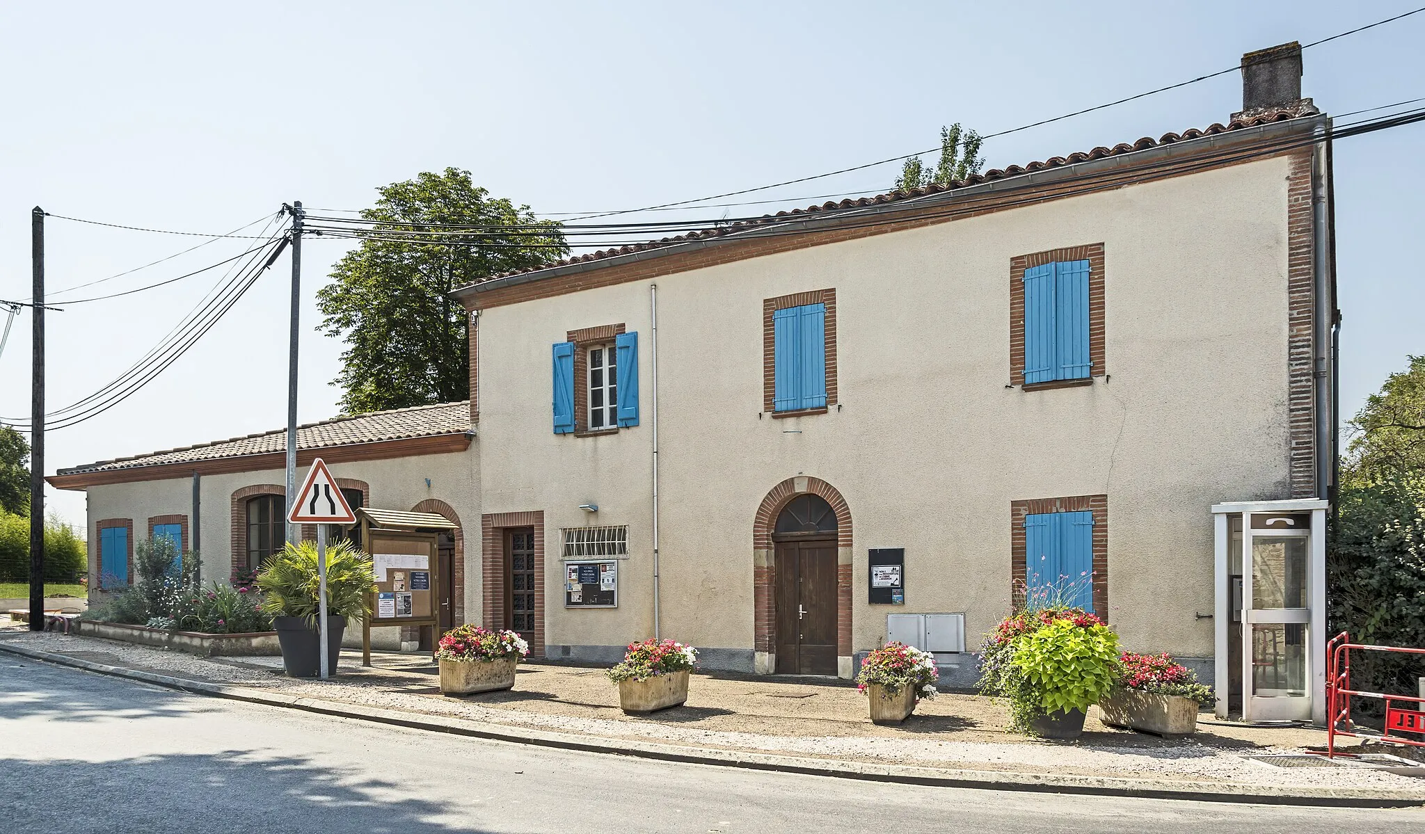
<svg viewBox="0 0 1425 834"><path fill-rule="evenodd" d="M449 719L426 716L420 713L403 713L399 710L385 710L379 707L363 707L326 701L319 699L294 697L261 690L171 677L152 671L107 666L80 660L53 652L40 652L24 646L7 646L0 642L0 652L19 654L33 660L70 666L124 677L141 683L150 683L180 691L207 694L235 701L264 704L269 707L285 707L305 710L323 716L339 716L363 721L376 721L428 730L432 733L450 733L473 738L487 738L513 744L536 744L540 747L554 747L560 750L579 750L583 753L604 753L616 756L637 756L660 761L678 761L687 764L710 764L717 767L742 767L750 770L771 770L778 773L799 773L808 776L828 776L836 778L858 778L866 781L886 781L896 784L923 784L936 787L959 787L980 790L1012 790L1059 794L1096 794L1161 800L1194 800L1210 803L1251 803L1271 805L1328 805L1352 808L1402 808L1425 805L1425 790L1421 791L1392 791L1375 788L1288 788L1274 786L1237 787L1201 781L1167 781L1124 777L1093 777L1093 776L1057 776L1043 773L1009 773L982 770L952 770L940 767L918 767L905 764L874 764L862 761L841 761L824 758L807 758L792 756L778 756L771 753L741 753L731 750L714 750L707 747L681 747L673 744L657 744L634 740L596 740L591 736L574 736L569 733L550 733L523 727L507 727L503 724L489 724L470 721L466 719Z"/></svg>

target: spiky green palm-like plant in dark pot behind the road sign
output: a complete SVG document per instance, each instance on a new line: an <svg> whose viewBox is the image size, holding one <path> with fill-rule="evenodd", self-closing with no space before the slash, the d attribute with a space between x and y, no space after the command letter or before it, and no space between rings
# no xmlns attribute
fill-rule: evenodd
<svg viewBox="0 0 1425 834"><path fill-rule="evenodd" d="M282 666L292 677L316 677L321 670L321 642L316 630L318 590L316 542L286 546L272 555L258 572L262 610L272 614L272 627L282 644ZM326 673L336 673L346 617L366 617L368 600L376 590L370 559L349 542L326 547Z"/></svg>

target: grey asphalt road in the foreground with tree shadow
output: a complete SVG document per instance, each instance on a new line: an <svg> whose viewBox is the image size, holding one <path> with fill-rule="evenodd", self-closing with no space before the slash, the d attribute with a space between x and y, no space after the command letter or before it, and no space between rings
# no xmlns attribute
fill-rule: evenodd
<svg viewBox="0 0 1425 834"><path fill-rule="evenodd" d="M0 654L0 831L1425 831L1422 810L862 783L570 753Z"/></svg>

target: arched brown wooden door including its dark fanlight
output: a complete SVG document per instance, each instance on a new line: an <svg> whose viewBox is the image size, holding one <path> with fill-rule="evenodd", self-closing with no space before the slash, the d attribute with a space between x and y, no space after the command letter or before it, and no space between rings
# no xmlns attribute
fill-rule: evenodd
<svg viewBox="0 0 1425 834"><path fill-rule="evenodd" d="M836 674L836 513L799 495L772 532L777 582L777 671Z"/></svg>

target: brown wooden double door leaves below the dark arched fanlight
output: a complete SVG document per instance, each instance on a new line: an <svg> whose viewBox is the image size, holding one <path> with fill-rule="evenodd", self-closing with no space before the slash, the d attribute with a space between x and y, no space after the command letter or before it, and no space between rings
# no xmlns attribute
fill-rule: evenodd
<svg viewBox="0 0 1425 834"><path fill-rule="evenodd" d="M836 542L777 542L777 671L836 674Z"/></svg>

